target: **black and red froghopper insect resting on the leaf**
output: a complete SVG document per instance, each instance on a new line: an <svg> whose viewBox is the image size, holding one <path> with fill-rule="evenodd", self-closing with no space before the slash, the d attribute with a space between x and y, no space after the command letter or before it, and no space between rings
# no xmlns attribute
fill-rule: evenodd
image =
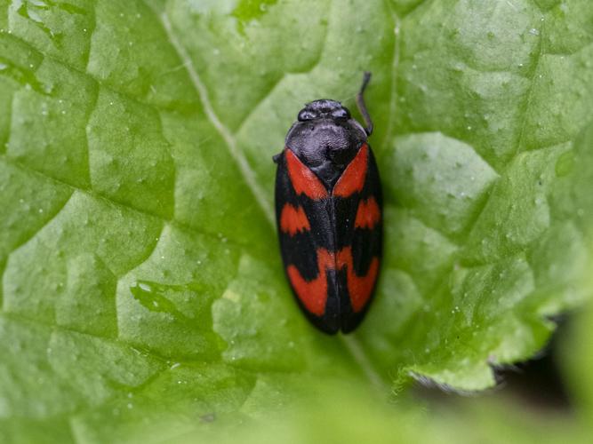
<svg viewBox="0 0 593 444"><path fill-rule="evenodd" d="M284 271L309 321L329 334L363 320L381 263L381 180L364 99L370 79L365 73L357 93L365 128L340 102L315 100L274 156Z"/></svg>

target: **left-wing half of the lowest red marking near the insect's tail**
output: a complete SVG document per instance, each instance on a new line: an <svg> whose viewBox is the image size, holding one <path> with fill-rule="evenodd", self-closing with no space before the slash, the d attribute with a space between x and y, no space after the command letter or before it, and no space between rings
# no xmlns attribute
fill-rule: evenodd
<svg viewBox="0 0 593 444"><path fill-rule="evenodd" d="M310 313L323 316L327 302L327 268L335 267L335 255L325 249L317 250L319 274L312 281L305 281L296 266L288 266L286 273L305 308Z"/></svg>

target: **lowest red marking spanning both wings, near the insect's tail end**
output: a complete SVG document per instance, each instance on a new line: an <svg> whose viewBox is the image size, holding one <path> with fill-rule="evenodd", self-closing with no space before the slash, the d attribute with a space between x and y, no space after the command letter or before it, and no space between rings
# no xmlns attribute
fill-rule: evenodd
<svg viewBox="0 0 593 444"><path fill-rule="evenodd" d="M345 247L337 255L325 249L317 249L317 267L319 274L312 281L305 281L296 266L286 268L292 288L305 308L310 313L323 316L327 302L327 270L341 270L346 267L350 304L354 312L358 313L365 307L373 292L379 274L379 259L373 258L366 274L358 276L354 271L351 247Z"/></svg>

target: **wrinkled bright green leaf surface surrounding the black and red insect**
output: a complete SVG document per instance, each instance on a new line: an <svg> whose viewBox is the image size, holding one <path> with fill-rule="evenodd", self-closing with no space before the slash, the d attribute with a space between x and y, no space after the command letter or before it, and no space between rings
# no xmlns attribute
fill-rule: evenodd
<svg viewBox="0 0 593 444"><path fill-rule="evenodd" d="M0 440L579 440L590 315L571 417L407 389L492 387L589 297L592 42L588 0L0 0ZM271 155L365 69L387 253L325 337Z"/></svg>

